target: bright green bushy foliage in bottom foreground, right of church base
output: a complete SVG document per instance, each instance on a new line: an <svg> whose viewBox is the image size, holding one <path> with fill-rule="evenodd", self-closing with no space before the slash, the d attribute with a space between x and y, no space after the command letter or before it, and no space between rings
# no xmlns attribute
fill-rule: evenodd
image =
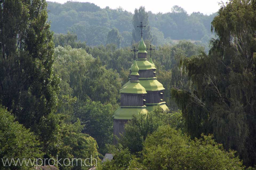
<svg viewBox="0 0 256 170"><path fill-rule="evenodd" d="M139 118L137 121L140 123L129 122L126 130L132 131L151 125L148 118L144 120ZM181 130L175 130L170 125L159 126L152 134L147 135L141 150L135 156L130 153L129 148L123 149L122 146L118 146L116 150L112 148L115 154L113 160L106 161L98 168L102 170L244 169L242 161L235 156L235 151L225 151L221 144L214 141L213 135L202 134L202 138L191 140Z"/></svg>

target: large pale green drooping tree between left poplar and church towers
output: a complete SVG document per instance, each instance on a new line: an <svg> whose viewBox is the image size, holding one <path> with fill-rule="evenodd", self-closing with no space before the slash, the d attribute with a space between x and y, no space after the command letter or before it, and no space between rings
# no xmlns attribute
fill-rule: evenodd
<svg viewBox="0 0 256 170"><path fill-rule="evenodd" d="M121 79L116 71L102 66L99 58L93 58L85 49L70 46L55 48L55 56L54 68L62 78L61 96L68 94L82 101L89 97L102 103L117 103Z"/></svg>

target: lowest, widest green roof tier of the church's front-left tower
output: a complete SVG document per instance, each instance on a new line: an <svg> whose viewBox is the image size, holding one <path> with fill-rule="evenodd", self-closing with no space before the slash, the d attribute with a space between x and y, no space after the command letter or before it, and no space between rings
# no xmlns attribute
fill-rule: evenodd
<svg viewBox="0 0 256 170"><path fill-rule="evenodd" d="M114 119L132 119L133 115L138 115L139 113L147 114L148 111L146 107L119 107L113 117Z"/></svg>

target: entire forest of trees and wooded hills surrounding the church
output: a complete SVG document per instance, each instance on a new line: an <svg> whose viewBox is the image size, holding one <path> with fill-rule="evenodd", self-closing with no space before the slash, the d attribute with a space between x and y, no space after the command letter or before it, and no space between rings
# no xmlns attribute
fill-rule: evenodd
<svg viewBox="0 0 256 170"><path fill-rule="evenodd" d="M230 0L211 15L170 11L0 0L0 170L36 169L6 160L38 158L98 170L255 170L256 1ZM140 22L169 109L134 115L117 138ZM106 153L114 157L102 163Z"/></svg>

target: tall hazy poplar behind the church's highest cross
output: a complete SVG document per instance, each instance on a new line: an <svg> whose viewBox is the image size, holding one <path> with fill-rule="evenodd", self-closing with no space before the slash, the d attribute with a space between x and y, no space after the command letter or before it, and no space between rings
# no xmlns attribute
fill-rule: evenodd
<svg viewBox="0 0 256 170"><path fill-rule="evenodd" d="M151 40L152 35L149 26L149 13L146 12L145 7L141 6L139 9L134 10L133 15L133 41L138 42L141 39L141 28L137 27L142 22L146 27L143 28L143 39Z"/></svg>

